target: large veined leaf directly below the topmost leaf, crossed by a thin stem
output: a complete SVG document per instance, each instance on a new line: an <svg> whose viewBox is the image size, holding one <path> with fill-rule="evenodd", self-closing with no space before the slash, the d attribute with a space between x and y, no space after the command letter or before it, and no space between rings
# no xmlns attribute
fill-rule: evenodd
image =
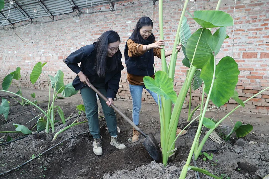
<svg viewBox="0 0 269 179"><path fill-rule="evenodd" d="M198 42L200 34L201 37ZM211 31L206 28L198 29L192 36L190 36L187 42L186 55L189 61L193 58L194 50L198 42L193 59L193 66L198 69L203 68L204 64L210 60L214 54L215 56L218 54L226 37L226 27L220 27L214 35L212 35Z"/></svg>

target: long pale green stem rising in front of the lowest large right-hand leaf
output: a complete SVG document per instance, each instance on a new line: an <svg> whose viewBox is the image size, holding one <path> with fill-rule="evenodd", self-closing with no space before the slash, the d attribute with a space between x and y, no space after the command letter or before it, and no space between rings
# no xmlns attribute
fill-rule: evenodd
<svg viewBox="0 0 269 179"><path fill-rule="evenodd" d="M213 89L213 85L214 85L215 74L216 74L216 59L215 59L215 54L214 54L214 72L213 72L213 78L212 78L210 90L209 90L208 96L206 98L206 103L205 103L205 106L204 106L204 111L202 113L201 119L199 120L198 129L196 131L196 134L195 134L195 137L194 137L194 140L193 140L193 143L192 143L192 147L190 149L189 156L187 158L187 161L186 161L185 165L183 166L183 169L182 169L182 171L180 173L179 179L184 179L186 177L186 174L187 174L187 171L188 171L188 167L189 167L189 164L190 164L190 160L192 159L192 154L194 152L194 148L195 148L195 145L196 145L198 136L200 135L201 127L202 127L202 124L203 124L203 119L204 119L204 116L206 115L207 105L209 103L210 95L211 95L211 92L212 92L212 89Z"/></svg>

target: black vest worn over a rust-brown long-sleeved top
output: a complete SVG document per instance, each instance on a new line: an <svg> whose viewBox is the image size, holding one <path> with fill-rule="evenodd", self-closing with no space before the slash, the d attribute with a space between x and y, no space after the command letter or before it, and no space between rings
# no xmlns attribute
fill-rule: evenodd
<svg viewBox="0 0 269 179"><path fill-rule="evenodd" d="M130 37L129 37L130 39ZM128 40L128 39L127 39ZM153 49L148 50L142 56L129 57L127 41L124 48L124 61L129 74L139 76L154 75L154 54Z"/></svg>

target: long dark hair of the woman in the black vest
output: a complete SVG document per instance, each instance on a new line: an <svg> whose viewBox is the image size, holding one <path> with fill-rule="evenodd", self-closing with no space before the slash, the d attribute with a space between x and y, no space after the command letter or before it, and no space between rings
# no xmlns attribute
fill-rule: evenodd
<svg viewBox="0 0 269 179"><path fill-rule="evenodd" d="M139 31L143 26L152 26L152 28L153 28L152 20L147 16L141 17L138 20L138 22L136 23L135 29L133 30L133 33L131 35L132 41L134 41L136 43L140 43L140 44L153 43L155 40L155 36L153 35L153 33L151 33L151 35L148 37L147 40L144 40L143 37L140 35Z"/></svg>

